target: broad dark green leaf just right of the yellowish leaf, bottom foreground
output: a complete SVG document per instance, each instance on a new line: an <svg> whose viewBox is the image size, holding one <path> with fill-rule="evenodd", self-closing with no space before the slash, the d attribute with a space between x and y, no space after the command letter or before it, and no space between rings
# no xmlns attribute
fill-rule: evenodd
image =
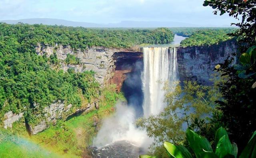
<svg viewBox="0 0 256 158"><path fill-rule="evenodd" d="M187 129L186 136L188 139L188 143L194 153L196 154L197 158L202 158L202 152L212 152L212 147L209 141L204 138L203 136L198 135L193 130Z"/></svg>

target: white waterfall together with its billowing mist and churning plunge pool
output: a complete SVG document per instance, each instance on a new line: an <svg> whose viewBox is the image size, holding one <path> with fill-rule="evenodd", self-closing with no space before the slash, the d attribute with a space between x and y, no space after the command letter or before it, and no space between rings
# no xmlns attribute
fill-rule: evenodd
<svg viewBox="0 0 256 158"><path fill-rule="evenodd" d="M152 140L146 131L136 127L136 119L157 115L164 109L164 82L173 84L178 79L176 48L143 47L143 65L141 74L132 76L133 82L128 83L128 87L142 87L142 104L131 102L130 100L140 100L142 96L136 96L139 94L136 91L129 91L135 95L126 98L128 103L116 105L116 113L103 122L94 139L93 145L98 147L93 151L94 157L136 157L145 154L151 144ZM138 78L141 79L140 83L136 83ZM140 115L136 115L138 113Z"/></svg>

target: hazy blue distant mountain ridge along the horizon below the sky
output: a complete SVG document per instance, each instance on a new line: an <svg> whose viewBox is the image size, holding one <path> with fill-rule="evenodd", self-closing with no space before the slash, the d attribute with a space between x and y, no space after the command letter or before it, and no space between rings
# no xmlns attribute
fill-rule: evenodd
<svg viewBox="0 0 256 158"><path fill-rule="evenodd" d="M20 20L1 20L7 24L17 24L22 22L24 24L45 24L45 25L63 25L73 27L85 27L85 28L158 28L158 27L207 27L199 26L196 24L188 24L183 22L154 22L154 21L122 21L119 23L110 24L96 24L89 22L73 22L61 19L51 18L32 18L32 19L20 19ZM230 26L208 26L208 27L230 27Z"/></svg>

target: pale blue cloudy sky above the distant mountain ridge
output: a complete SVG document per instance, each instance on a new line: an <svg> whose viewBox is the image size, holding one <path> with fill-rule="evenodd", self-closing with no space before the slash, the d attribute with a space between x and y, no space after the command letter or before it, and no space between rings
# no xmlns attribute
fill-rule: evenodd
<svg viewBox="0 0 256 158"><path fill-rule="evenodd" d="M0 0L0 20L54 18L99 24L121 21L171 21L202 26L230 26L204 0Z"/></svg>

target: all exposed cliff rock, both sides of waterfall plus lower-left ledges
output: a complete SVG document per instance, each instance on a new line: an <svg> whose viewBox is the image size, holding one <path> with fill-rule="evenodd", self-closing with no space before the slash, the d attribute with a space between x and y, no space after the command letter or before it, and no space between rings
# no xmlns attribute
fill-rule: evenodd
<svg viewBox="0 0 256 158"><path fill-rule="evenodd" d="M180 80L197 80L203 84L211 84L209 79L212 70L218 63L237 51L237 45L234 41L226 41L218 45L209 47L178 47L177 60ZM56 53L58 59L61 60L61 69L67 71L74 68L75 71L95 71L96 80L102 85L116 84L117 91L121 90L122 84L126 79L126 74L135 71L135 63L139 61L143 63L143 53L140 47L130 49L116 49L106 47L90 47L87 50L73 50L71 47L55 45L38 45L36 47L38 55L46 55ZM67 54L75 55L80 64L66 64L64 60ZM139 65L143 68L143 64ZM55 124L58 119L66 119L68 116L79 111L89 111L97 108L97 101L88 103L80 109L74 109L72 105L65 105L63 101L55 101L46 107L41 114L42 119L37 124L28 124L31 134L36 134L49 127L49 124ZM12 127L12 123L21 119L24 113L13 114L9 111L5 114L3 120L4 128Z"/></svg>

